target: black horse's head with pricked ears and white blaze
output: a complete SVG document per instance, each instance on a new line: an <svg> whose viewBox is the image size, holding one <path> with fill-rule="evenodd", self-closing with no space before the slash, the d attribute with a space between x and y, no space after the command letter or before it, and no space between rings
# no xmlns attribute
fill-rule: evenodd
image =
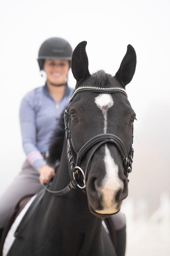
<svg viewBox="0 0 170 256"><path fill-rule="evenodd" d="M77 83L68 108L68 148L73 152L71 157L74 161L79 158L77 172L73 159L68 160L74 164L74 170L69 168L71 177L72 172L78 174L78 170L81 170L79 177L82 173L84 175L90 211L104 218L118 212L122 200L128 195L125 169L130 168L126 164L132 157L132 130L136 114L126 97L125 86L133 78L136 53L131 45L127 46L115 76L103 70L90 75L86 44L83 41L77 45L71 61ZM124 155L128 157L121 151L127 152Z"/></svg>

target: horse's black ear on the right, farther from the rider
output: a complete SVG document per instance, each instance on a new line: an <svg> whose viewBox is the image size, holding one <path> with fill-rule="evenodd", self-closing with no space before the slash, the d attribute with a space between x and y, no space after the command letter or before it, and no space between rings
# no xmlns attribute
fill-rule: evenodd
<svg viewBox="0 0 170 256"><path fill-rule="evenodd" d="M132 45L127 46L126 54L121 62L119 70L115 77L125 88L126 84L130 83L136 69L136 52Z"/></svg>

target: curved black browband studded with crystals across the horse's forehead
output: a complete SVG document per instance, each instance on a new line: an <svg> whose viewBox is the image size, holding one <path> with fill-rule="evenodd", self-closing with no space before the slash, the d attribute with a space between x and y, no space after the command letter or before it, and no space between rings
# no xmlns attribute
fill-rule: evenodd
<svg viewBox="0 0 170 256"><path fill-rule="evenodd" d="M77 88L72 97L71 97L71 100L73 99L73 97L75 96L75 94L79 91L106 91L106 92L109 92L109 91L112 91L112 92L116 92L116 91L119 91L119 92L123 92L125 94L125 96L127 97L127 93L126 93L126 90L122 87L109 87L109 88L100 88L100 87L93 87L93 86L81 86L79 88Z"/></svg>

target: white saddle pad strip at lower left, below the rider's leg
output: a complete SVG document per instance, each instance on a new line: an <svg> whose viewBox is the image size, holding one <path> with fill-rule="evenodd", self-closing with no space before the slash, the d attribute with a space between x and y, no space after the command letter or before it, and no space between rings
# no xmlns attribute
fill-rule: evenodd
<svg viewBox="0 0 170 256"><path fill-rule="evenodd" d="M17 227L19 226L22 218L24 217L25 213L27 212L28 208L30 207L30 205L32 204L32 202L34 201L34 199L36 198L37 194L34 195L30 201L25 205L25 207L22 209L22 211L20 212L20 214L17 216L16 220L14 221L14 223L12 224L6 238L5 238L5 242L4 242L4 246L3 246L3 252L2 252L2 256L7 256L12 244L15 241L15 231L17 229Z"/></svg>

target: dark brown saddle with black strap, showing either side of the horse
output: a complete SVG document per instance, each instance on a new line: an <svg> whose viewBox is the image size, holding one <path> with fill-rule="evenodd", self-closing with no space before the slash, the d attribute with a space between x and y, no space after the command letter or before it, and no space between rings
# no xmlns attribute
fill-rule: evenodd
<svg viewBox="0 0 170 256"><path fill-rule="evenodd" d="M25 213L24 217L22 218L14 236L20 237L22 234L22 231L24 230L24 228L27 226L27 223L29 222L30 218L32 217L32 215L34 214L37 206L39 205L39 203L41 202L44 194L45 194L45 190L42 189L36 196L36 198L34 199L34 201L32 202L32 204L30 205L29 209L27 210L27 212ZM20 212L23 210L23 208L25 207L25 205L30 201L30 199L34 196L34 194L31 195L26 195L24 197L22 197L18 203L16 204L16 206L14 207L14 209L11 211L11 214L8 216L7 221L5 223L5 227L2 233L2 238L0 241L0 256L2 256L2 250L3 250L3 245L5 242L5 238L12 226L12 224L14 223L14 221L16 220L17 216L20 214ZM111 241L113 243L114 248L116 249L117 246L117 236L116 236L116 231L114 228L114 223L111 217L103 219L106 227L109 231L109 235L111 238Z"/></svg>

